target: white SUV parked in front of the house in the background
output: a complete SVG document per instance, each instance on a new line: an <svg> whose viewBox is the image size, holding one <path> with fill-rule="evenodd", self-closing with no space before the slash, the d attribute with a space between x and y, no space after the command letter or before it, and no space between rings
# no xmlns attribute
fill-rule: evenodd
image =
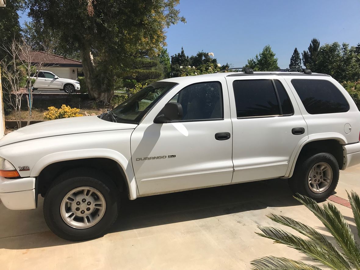
<svg viewBox="0 0 360 270"><path fill-rule="evenodd" d="M64 90L65 93L71 94L80 90L80 82L60 78L50 71L37 71L31 75L35 79L33 90Z"/></svg>

